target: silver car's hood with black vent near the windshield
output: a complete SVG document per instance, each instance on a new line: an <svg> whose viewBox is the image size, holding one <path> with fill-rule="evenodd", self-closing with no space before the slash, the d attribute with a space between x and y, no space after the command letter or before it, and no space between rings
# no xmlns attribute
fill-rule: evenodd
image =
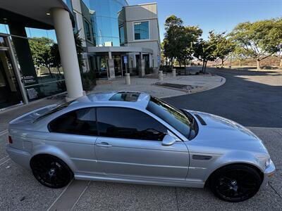
<svg viewBox="0 0 282 211"><path fill-rule="evenodd" d="M204 141L208 145L231 147L238 150L252 150L267 152L262 140L250 129L241 124L217 115L188 110L196 117L199 124L199 133L196 140ZM202 118L207 125L201 124L198 117Z"/></svg>

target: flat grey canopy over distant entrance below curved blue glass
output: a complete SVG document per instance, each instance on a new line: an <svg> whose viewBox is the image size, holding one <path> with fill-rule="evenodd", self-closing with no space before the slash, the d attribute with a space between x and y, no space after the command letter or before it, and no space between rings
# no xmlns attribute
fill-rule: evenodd
<svg viewBox="0 0 282 211"><path fill-rule="evenodd" d="M88 47L88 53L106 53L106 52L118 52L118 53L153 53L152 49L146 49L141 47L132 46L99 46Z"/></svg>

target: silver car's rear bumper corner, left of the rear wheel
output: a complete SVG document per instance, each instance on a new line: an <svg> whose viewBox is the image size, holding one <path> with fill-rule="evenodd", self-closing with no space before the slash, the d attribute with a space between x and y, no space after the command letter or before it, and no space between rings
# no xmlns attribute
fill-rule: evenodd
<svg viewBox="0 0 282 211"><path fill-rule="evenodd" d="M26 151L19 150L17 148L13 148L9 145L6 146L6 152L10 156L10 158L16 162L18 165L25 167L26 169L30 169L30 153Z"/></svg>

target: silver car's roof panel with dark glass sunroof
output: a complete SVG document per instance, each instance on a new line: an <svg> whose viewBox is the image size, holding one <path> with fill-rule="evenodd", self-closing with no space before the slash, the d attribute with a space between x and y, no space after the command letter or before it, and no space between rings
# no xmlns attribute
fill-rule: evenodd
<svg viewBox="0 0 282 211"><path fill-rule="evenodd" d="M138 91L110 91L87 94L75 101L72 101L69 107L73 106L121 106L130 108L146 108L150 95Z"/></svg>

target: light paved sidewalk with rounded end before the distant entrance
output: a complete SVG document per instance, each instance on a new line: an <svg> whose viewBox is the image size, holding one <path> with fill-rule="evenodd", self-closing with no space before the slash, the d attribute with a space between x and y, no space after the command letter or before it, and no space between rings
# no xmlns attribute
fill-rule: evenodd
<svg viewBox="0 0 282 211"><path fill-rule="evenodd" d="M218 75L180 75L175 78L172 75L164 75L164 81L155 78L130 77L130 85L125 84L125 77L117 77L114 80L98 81L97 86L91 91L143 91L159 98L193 94L200 91L214 89L223 85L226 79ZM171 87L159 87L155 83L181 84L192 89L177 89Z"/></svg>

